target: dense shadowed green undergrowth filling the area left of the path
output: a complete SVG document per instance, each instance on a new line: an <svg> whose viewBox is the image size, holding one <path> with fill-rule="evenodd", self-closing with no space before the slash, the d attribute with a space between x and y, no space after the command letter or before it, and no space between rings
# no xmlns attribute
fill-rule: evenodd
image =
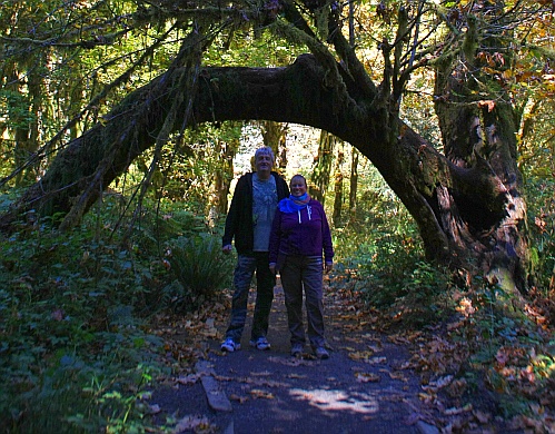
<svg viewBox="0 0 555 434"><path fill-rule="evenodd" d="M145 204L131 234L110 196L72 231L47 219L0 239L2 432L153 430L147 389L166 367L148 322L175 282L166 254L175 238L196 234L206 260L219 243L199 235L201 218L169 205L157 214Z"/></svg>

